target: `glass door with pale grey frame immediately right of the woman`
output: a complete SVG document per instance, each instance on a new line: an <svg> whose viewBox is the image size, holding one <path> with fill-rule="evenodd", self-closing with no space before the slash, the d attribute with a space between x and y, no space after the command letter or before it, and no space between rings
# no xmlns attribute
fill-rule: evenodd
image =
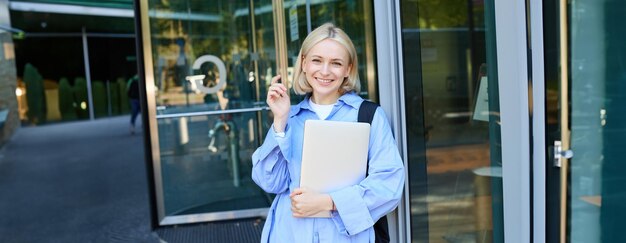
<svg viewBox="0 0 626 243"><path fill-rule="evenodd" d="M525 4L399 3L406 241L530 241Z"/></svg>

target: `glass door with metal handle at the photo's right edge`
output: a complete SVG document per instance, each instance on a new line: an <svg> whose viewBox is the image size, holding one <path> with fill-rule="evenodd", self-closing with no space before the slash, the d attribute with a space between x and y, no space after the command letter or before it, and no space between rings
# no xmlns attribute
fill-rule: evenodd
<svg viewBox="0 0 626 243"><path fill-rule="evenodd" d="M546 241L626 242L626 3L544 1L544 8L553 20L544 26Z"/></svg>

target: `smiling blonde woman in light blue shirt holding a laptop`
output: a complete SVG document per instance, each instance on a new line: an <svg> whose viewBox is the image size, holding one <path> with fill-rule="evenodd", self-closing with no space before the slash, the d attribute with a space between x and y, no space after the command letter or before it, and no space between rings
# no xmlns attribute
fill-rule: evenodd
<svg viewBox="0 0 626 243"><path fill-rule="evenodd" d="M328 194L300 188L304 121L357 121L363 99L356 50L332 24L312 31L302 43L293 88L304 100L291 106L287 88L272 79L267 104L274 123L252 155L252 179L277 194L261 242L374 242L374 223L396 208L404 167L382 109L371 123L368 176L358 185ZM309 218L331 210L331 218Z"/></svg>

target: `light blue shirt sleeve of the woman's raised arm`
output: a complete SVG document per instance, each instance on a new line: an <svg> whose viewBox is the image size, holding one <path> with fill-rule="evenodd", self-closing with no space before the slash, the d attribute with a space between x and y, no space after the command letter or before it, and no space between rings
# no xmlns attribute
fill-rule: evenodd
<svg viewBox="0 0 626 243"><path fill-rule="evenodd" d="M291 156L289 125L284 136L278 136L272 126L263 144L252 154L252 180L268 193L278 194L289 187L288 159Z"/></svg>

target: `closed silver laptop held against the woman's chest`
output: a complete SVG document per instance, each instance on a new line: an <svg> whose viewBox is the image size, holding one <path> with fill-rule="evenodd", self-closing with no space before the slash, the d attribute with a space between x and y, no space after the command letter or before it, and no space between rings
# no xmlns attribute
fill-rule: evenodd
<svg viewBox="0 0 626 243"><path fill-rule="evenodd" d="M300 187L329 193L365 179L369 134L368 123L305 121Z"/></svg>

